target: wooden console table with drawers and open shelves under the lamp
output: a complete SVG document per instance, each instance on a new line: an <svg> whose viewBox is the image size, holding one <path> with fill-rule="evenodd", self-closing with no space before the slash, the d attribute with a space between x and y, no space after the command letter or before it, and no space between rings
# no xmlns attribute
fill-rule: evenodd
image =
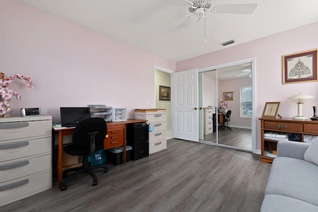
<svg viewBox="0 0 318 212"><path fill-rule="evenodd" d="M304 142L304 135L318 136L318 121L297 120L291 118L259 118L261 130L261 161L272 162L277 155L277 143L280 138L264 139L264 133L292 133L301 136ZM297 141L291 141L297 142Z"/></svg>

